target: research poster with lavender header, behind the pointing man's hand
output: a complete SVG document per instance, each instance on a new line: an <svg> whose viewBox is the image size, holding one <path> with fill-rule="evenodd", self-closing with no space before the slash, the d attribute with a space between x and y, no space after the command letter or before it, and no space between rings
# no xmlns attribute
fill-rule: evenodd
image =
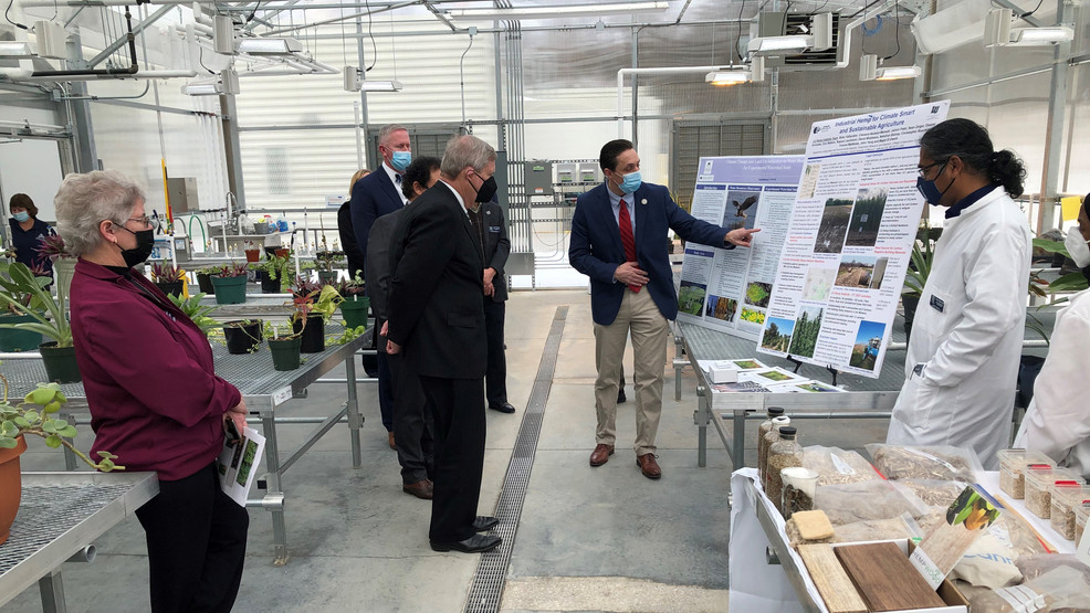
<svg viewBox="0 0 1090 613"><path fill-rule="evenodd" d="M701 158L692 215L759 228L751 249L685 243L678 318L756 341L787 236L803 156Z"/></svg>

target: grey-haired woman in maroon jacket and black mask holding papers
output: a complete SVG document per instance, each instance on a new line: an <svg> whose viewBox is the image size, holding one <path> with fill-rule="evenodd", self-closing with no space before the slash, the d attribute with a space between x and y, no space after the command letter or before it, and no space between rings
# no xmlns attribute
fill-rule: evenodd
<svg viewBox="0 0 1090 613"><path fill-rule="evenodd" d="M228 420L245 427L247 405L216 376L200 328L134 268L155 245L144 200L115 171L69 175L54 199L57 232L78 257L72 338L95 432L91 455L109 451L130 472L158 473L159 493L136 510L150 611L230 611L250 515L220 489L216 458Z"/></svg>

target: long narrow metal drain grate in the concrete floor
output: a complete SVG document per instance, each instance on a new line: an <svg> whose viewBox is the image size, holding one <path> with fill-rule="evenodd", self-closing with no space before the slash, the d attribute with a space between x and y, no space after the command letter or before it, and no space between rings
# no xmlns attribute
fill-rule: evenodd
<svg viewBox="0 0 1090 613"><path fill-rule="evenodd" d="M530 402L523 413L522 425L518 426L518 437L511 453L507 474L503 478L503 489L496 504L495 516L500 525L495 527L496 536L503 538L500 547L481 556L476 574L470 585L469 599L465 601L467 613L486 613L500 610L500 596L506 582L507 567L511 564L511 551L515 546L515 532L522 516L522 505L526 499L526 486L530 484L530 472L534 466L534 453L537 451L537 436L542 431L542 419L545 416L545 401L553 385L553 372L556 370L556 355L560 348L560 336L564 334L564 321L568 307L556 308L553 325L545 340L545 351L542 363L537 368L537 377L530 393Z"/></svg>

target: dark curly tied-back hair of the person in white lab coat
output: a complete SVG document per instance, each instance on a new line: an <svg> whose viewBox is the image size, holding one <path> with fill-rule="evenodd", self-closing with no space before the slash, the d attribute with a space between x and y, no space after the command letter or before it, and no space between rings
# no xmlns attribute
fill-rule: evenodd
<svg viewBox="0 0 1090 613"><path fill-rule="evenodd" d="M1026 167L1014 152L996 151L984 126L970 119L946 119L924 133L920 146L935 162L957 156L965 166L999 183L1012 198L1018 198L1026 181Z"/></svg>

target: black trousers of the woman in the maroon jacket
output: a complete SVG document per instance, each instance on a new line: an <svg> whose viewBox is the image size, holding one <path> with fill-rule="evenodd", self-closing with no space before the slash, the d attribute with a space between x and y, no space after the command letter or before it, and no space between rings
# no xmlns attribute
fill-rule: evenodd
<svg viewBox="0 0 1090 613"><path fill-rule="evenodd" d="M220 489L216 465L136 510L148 545L151 611L227 612L242 582L250 514Z"/></svg>

